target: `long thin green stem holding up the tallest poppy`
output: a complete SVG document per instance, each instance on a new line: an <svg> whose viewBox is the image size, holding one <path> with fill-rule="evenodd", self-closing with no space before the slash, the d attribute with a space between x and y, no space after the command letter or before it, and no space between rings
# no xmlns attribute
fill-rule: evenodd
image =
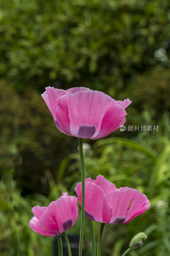
<svg viewBox="0 0 170 256"><path fill-rule="evenodd" d="M80 228L80 243L78 256L82 256L83 249L83 233L85 226L85 165L83 157L83 139L79 138L79 152L81 162L81 228Z"/></svg>

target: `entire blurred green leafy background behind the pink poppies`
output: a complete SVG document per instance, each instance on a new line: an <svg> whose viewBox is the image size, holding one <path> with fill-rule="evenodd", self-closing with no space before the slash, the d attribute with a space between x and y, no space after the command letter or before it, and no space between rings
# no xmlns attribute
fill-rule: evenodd
<svg viewBox="0 0 170 256"><path fill-rule="evenodd" d="M151 208L126 225L106 225L103 255L148 239L130 256L170 254L170 4L152 0L1 0L0 251L52 255L53 239L30 230L32 206L48 205L80 180L78 140L59 132L41 98L45 86L86 86L129 98L128 125L159 125L85 140L86 177L141 190ZM88 223L88 220L85 220ZM85 253L91 255L85 225ZM95 223L96 239L99 223ZM70 234L79 234L79 220ZM90 249L88 249L90 248Z"/></svg>

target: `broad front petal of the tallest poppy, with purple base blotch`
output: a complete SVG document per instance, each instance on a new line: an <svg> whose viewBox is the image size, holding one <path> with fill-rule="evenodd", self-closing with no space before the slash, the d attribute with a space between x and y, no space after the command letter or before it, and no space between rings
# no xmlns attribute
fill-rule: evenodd
<svg viewBox="0 0 170 256"><path fill-rule="evenodd" d="M80 91L57 100L56 119L61 129L78 138L96 138L109 107L115 106L119 122L126 111L111 97L98 91ZM110 114L111 115L111 114ZM113 118L112 116L112 118ZM115 125L118 125L118 121ZM108 120L107 120L108 121ZM103 126L107 123L103 123Z"/></svg>

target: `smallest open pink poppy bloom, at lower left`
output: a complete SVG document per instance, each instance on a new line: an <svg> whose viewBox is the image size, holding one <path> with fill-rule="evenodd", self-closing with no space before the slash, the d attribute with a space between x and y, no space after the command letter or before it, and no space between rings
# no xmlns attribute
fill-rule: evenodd
<svg viewBox="0 0 170 256"><path fill-rule="evenodd" d="M48 207L36 205L32 208L34 214L30 220L30 228L43 236L56 236L70 229L78 219L78 198L69 196L68 193L56 201L52 201Z"/></svg>

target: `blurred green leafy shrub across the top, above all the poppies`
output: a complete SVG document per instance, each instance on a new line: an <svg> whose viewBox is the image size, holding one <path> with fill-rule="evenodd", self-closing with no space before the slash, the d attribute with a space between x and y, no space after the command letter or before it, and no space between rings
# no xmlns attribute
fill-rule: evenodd
<svg viewBox="0 0 170 256"><path fill-rule="evenodd" d="M168 0L1 0L0 9L5 79L107 92L136 71L167 65Z"/></svg>

